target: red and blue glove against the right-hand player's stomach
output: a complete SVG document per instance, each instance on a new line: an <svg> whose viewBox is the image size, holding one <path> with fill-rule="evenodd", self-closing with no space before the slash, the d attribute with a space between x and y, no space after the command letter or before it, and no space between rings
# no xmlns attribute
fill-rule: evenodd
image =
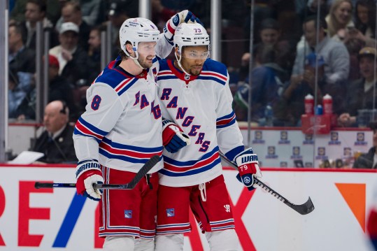
<svg viewBox="0 0 377 251"><path fill-rule="evenodd" d="M190 138L178 125L170 120L162 120L162 144L168 152L178 152L180 148L190 145Z"/></svg>

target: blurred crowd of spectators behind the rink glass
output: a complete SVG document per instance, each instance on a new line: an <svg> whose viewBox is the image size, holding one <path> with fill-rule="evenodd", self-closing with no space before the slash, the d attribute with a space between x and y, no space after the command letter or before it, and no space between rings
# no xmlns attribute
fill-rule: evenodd
<svg viewBox="0 0 377 251"><path fill-rule="evenodd" d="M211 2L150 0L151 20L162 31L172 15L189 9L211 34ZM255 0L252 8L250 0L220 2L220 61L229 71L239 122L301 127L308 94L315 106L331 96L338 127L374 121L376 0ZM85 110L101 60L109 61L104 55L118 55L119 27L138 17L138 8L137 0L9 0L10 122L43 122L36 116L37 24L48 41L46 103L64 101L72 123Z"/></svg>

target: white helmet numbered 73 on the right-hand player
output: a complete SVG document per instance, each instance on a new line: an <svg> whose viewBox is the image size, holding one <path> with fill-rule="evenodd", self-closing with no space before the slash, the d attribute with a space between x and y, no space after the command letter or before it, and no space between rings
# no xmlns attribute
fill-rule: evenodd
<svg viewBox="0 0 377 251"><path fill-rule="evenodd" d="M178 53L180 54L183 46L209 45L209 36L201 24L183 23L176 29L174 45L178 47Z"/></svg>

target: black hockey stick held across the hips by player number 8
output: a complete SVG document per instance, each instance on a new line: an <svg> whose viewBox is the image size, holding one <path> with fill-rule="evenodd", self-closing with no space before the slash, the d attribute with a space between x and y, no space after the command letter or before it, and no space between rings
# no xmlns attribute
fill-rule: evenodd
<svg viewBox="0 0 377 251"><path fill-rule="evenodd" d="M133 189L137 183L159 162L159 156L155 155L148 159L141 169L136 173L135 177L127 184L93 184L95 189ZM36 182L35 188L58 188L58 187L76 187L75 183L43 183Z"/></svg>

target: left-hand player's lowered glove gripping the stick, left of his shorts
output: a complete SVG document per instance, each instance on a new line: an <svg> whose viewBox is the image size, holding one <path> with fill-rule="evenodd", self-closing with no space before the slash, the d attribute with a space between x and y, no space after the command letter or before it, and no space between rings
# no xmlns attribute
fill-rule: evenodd
<svg viewBox="0 0 377 251"><path fill-rule="evenodd" d="M77 194L83 195L94 201L101 199L102 190L94 189L93 184L104 184L102 171L97 160L91 159L80 162L76 168Z"/></svg>

